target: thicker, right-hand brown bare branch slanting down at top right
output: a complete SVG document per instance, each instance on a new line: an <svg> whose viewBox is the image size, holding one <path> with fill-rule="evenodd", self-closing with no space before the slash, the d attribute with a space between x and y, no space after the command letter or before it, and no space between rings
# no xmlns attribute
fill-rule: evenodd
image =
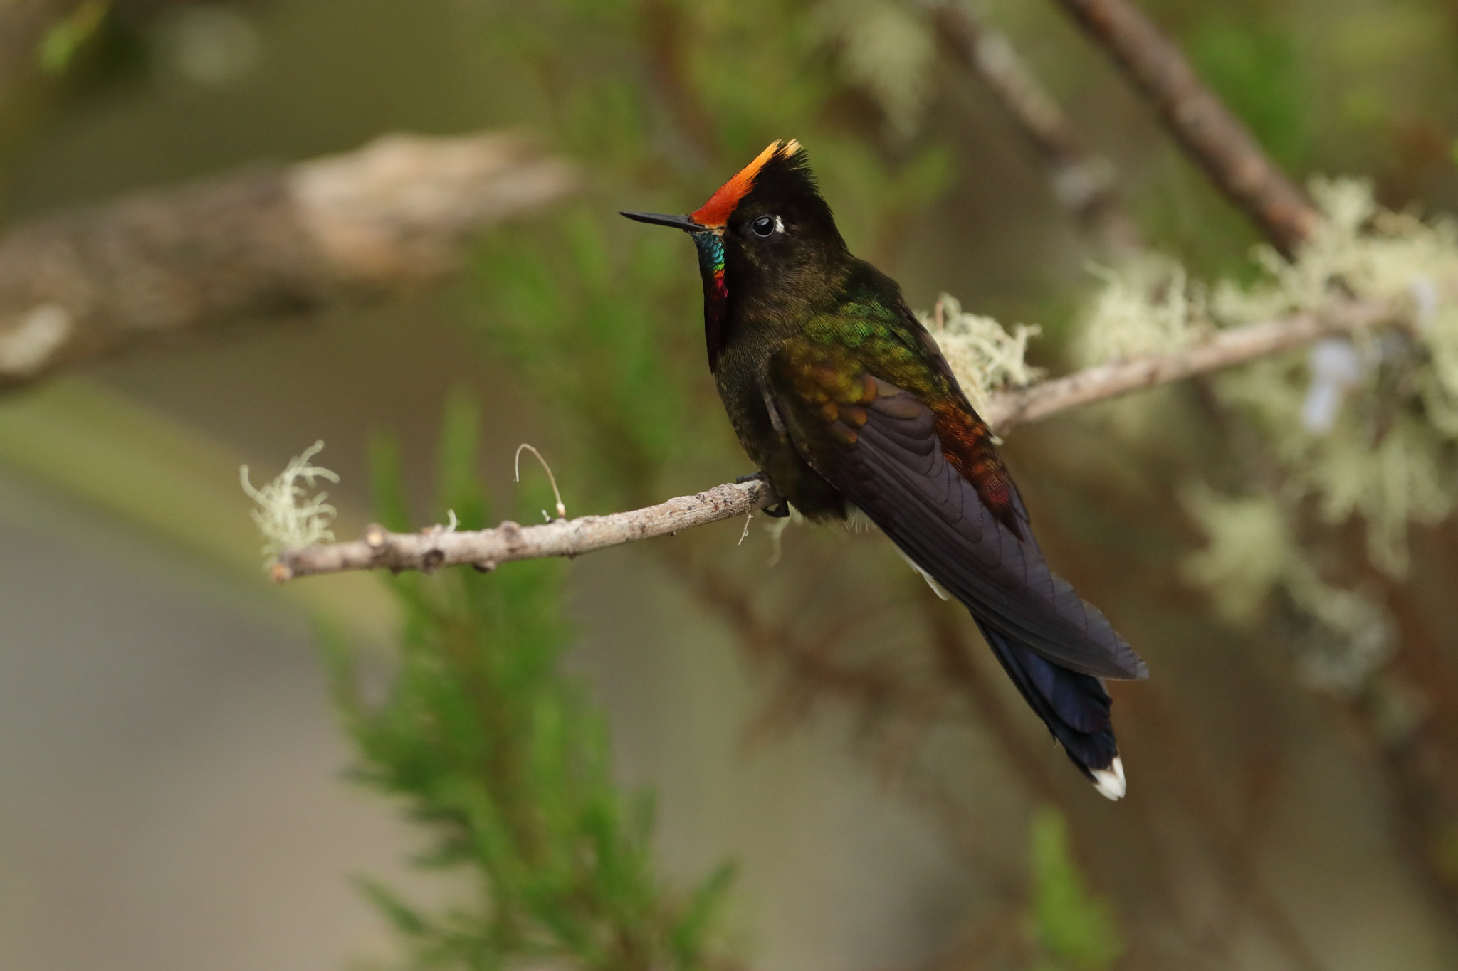
<svg viewBox="0 0 1458 971"><path fill-rule="evenodd" d="M1180 48L1128 0L1059 0L1153 102L1161 121L1286 256L1321 218L1251 132L1196 76Z"/></svg>

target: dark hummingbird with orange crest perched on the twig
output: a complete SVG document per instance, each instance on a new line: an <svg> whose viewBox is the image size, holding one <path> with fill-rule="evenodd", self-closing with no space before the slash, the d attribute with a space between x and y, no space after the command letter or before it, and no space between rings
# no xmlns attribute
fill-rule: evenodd
<svg viewBox="0 0 1458 971"><path fill-rule="evenodd" d="M961 601L1067 757L1110 799L1124 766L1101 678L1143 659L1048 569L994 437L894 280L850 253L798 141L687 215L709 370L749 459L811 521L863 514Z"/></svg>

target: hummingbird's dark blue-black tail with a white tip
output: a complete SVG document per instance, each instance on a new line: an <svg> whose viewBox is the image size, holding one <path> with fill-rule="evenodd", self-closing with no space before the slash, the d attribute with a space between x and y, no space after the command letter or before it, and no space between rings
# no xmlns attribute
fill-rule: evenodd
<svg viewBox="0 0 1458 971"><path fill-rule="evenodd" d="M974 617L975 620L975 617ZM1118 758L1108 691L1096 677L1040 658L1018 642L977 620L997 661L1069 760L1110 799L1124 795L1124 764Z"/></svg>

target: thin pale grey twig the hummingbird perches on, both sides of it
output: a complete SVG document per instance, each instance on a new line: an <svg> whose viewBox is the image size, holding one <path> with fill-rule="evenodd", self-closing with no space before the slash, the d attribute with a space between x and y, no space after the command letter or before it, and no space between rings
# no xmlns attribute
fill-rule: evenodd
<svg viewBox="0 0 1458 971"><path fill-rule="evenodd" d="M1000 392L987 409L999 431L1040 421L1128 392L1169 384L1194 374L1209 374L1270 354L1299 348L1331 333L1353 333L1384 323L1400 323L1410 312L1387 303L1349 301L1324 314L1299 313L1216 333L1169 354L1091 367L1028 389ZM694 526L745 515L779 502L763 480L726 483L707 492L679 496L659 505L611 515L555 520L544 526L503 523L490 530L389 533L370 526L353 543L287 550L273 566L276 581L350 569L420 569L471 563L496 569L513 559L577 556L653 536L674 534Z"/></svg>

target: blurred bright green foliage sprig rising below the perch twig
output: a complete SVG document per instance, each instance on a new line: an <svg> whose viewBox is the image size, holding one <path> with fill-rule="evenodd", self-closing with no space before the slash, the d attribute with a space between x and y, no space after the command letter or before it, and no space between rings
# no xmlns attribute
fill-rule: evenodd
<svg viewBox="0 0 1458 971"><path fill-rule="evenodd" d="M465 528L490 515L475 485L477 435L475 408L456 400L440 445L440 507ZM408 528L394 448L375 453L381 520ZM602 718L558 668L570 643L561 574L561 563L535 560L499 575L395 578L404 630L378 697L353 652L330 639L356 777L401 799L432 834L418 866L465 873L469 888L427 913L362 881L411 967L710 965L706 939L730 872L687 895L655 875L649 804L618 792Z"/></svg>

